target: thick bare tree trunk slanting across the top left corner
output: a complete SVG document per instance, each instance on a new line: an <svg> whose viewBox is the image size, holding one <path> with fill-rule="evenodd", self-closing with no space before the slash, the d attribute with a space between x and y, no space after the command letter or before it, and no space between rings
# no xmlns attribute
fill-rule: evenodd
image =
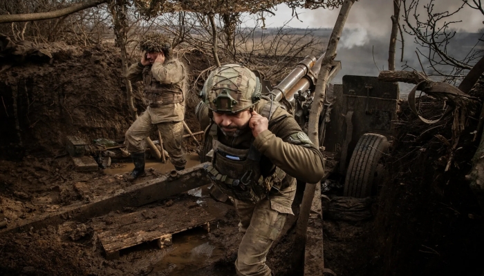
<svg viewBox="0 0 484 276"><path fill-rule="evenodd" d="M86 8L91 8L102 3L106 3L108 0L87 0L80 3L72 4L66 8L59 10L53 10L51 12L37 12L28 14L2 14L0 15L0 23L10 23L10 22L26 22L26 21L36 21L53 19L57 17L64 17L68 14L73 14L80 10L85 10Z"/></svg>

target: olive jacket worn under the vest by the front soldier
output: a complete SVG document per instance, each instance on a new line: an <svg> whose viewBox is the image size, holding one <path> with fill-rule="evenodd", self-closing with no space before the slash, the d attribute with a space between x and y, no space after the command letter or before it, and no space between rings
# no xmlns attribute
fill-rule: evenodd
<svg viewBox="0 0 484 276"><path fill-rule="evenodd" d="M261 114L263 106L268 101L261 99L254 106L254 110ZM199 120L208 117L207 112ZM283 179L284 193L296 189L297 178L301 181L314 184L324 176L324 157L308 136L301 130L294 117L286 110L278 106L269 119L268 130L259 133L254 139L252 131L248 129L237 137L227 137L223 134L218 135L218 141L232 148L250 148L252 143L261 152L261 170L271 168L273 165L286 172ZM269 195L272 201L278 201L278 197ZM290 202L281 200L279 202L281 213L292 213Z"/></svg>

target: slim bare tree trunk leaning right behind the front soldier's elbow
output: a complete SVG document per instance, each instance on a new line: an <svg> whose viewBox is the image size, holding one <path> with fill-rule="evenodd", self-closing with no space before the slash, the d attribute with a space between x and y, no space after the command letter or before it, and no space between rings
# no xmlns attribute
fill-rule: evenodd
<svg viewBox="0 0 484 276"><path fill-rule="evenodd" d="M321 114L324 98L326 95L326 82L329 72L331 71L331 67L333 66L333 61L336 57L336 48L344 28L344 23L348 18L348 14L354 2L355 0L346 0L342 4L341 10L339 11L339 15L335 23L335 28L333 28L333 32L331 33L331 37L328 42L326 56L323 59L321 70L319 71L319 76L317 78L315 97L311 105L308 123L308 137L315 145L319 145L319 115ZM295 247L292 251L293 261L295 262L294 264L304 264L306 231L308 228L309 213L311 204L313 203L315 190L315 184L306 184L306 189L304 190L304 196L301 203L301 209L299 212L299 218L297 219L296 237L294 243ZM323 250L323 248L321 248L321 250ZM322 259L321 262L324 262L324 259Z"/></svg>

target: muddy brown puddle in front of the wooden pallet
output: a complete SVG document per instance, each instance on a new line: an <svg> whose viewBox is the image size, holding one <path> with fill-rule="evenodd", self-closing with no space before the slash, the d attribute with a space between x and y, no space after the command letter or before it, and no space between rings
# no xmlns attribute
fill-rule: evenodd
<svg viewBox="0 0 484 276"><path fill-rule="evenodd" d="M150 275L203 275L201 270L223 257L224 253L210 244L207 233L200 228L174 235L173 248L154 265Z"/></svg>

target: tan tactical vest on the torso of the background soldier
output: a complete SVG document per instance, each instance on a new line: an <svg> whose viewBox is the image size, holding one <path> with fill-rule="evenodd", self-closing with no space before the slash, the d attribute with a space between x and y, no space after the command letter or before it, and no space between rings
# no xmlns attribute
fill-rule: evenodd
<svg viewBox="0 0 484 276"><path fill-rule="evenodd" d="M180 63L183 66L183 63ZM185 69L185 68L184 68ZM143 82L145 83L145 96L148 100L149 106L152 108L160 107L169 103L182 103L185 100L183 97L183 83L160 83L151 72L151 66L143 70Z"/></svg>

